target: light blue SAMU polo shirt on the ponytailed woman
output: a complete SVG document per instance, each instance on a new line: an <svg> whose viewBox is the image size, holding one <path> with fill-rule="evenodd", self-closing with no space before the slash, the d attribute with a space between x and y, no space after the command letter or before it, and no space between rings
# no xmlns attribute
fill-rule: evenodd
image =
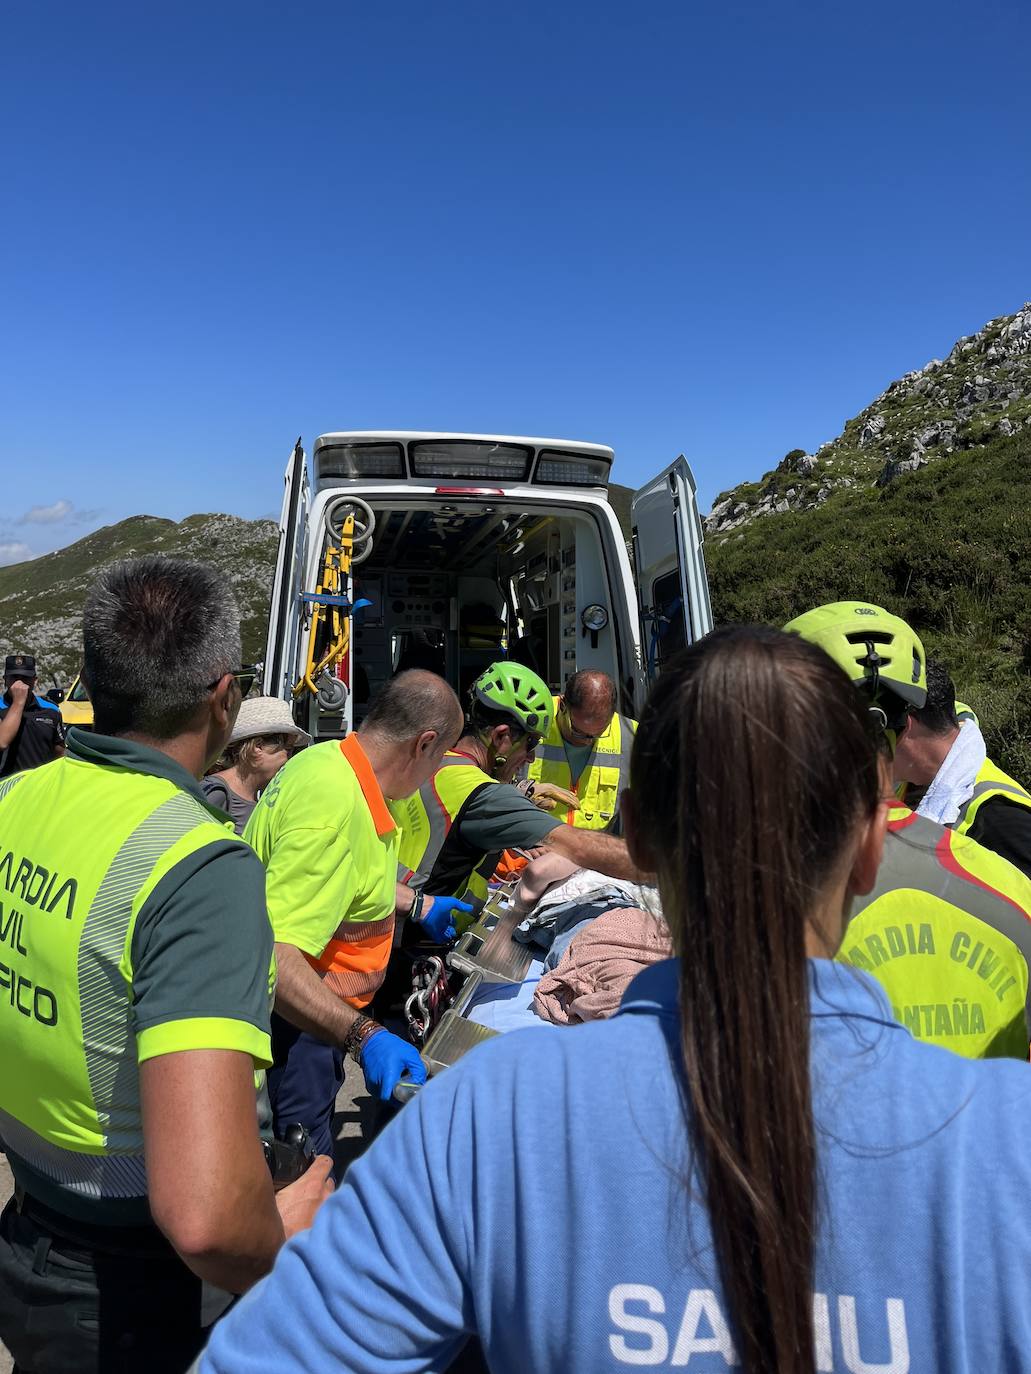
<svg viewBox="0 0 1031 1374"><path fill-rule="evenodd" d="M1031 1370L1031 1069L917 1043L811 963L819 1371ZM352 1165L202 1374L733 1367L674 1079L676 966L608 1022L478 1047Z"/></svg>

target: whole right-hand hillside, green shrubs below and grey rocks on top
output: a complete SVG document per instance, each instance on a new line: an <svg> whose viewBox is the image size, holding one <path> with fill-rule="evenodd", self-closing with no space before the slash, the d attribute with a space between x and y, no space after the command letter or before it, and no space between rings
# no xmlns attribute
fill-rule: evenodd
<svg viewBox="0 0 1031 1374"><path fill-rule="evenodd" d="M825 486L819 503L779 495L779 504L768 508L771 489L797 492L792 473L800 455L789 455L762 482L720 497L707 522L705 559L719 622L782 624L839 599L872 600L903 616L928 651L949 665L958 695L977 710L990 756L1028 782L1031 353L1021 342L1016 357L1002 354L998 339L1006 320L991 322L954 350L955 374L973 371L980 396L949 361L933 365L944 390L935 401L933 427L950 442L920 444L920 433L931 437L927 394L916 392L918 400L909 404L899 398L903 383L894 383L865 418L851 420L840 440L819 451L814 466L801 464L807 482ZM993 349L995 357L987 356ZM973 365L971 354L979 360ZM909 374L903 382L927 374ZM907 409L911 425L900 418ZM885 412L885 426L870 426L872 415ZM872 431L876 456L858 441ZM885 452L885 431L894 456ZM751 518L740 508L745 504Z"/></svg>

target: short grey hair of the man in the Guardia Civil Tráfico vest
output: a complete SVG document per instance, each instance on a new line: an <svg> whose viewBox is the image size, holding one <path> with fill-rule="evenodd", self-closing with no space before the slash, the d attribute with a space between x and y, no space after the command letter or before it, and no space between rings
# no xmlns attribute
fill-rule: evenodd
<svg viewBox="0 0 1031 1374"><path fill-rule="evenodd" d="M170 739L212 683L241 666L239 609L206 563L131 558L93 583L82 646L96 730Z"/></svg>

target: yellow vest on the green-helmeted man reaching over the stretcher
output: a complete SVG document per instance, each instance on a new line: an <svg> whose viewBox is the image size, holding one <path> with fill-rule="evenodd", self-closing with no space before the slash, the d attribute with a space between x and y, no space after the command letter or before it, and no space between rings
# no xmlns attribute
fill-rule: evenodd
<svg viewBox="0 0 1031 1374"><path fill-rule="evenodd" d="M412 882L430 896L456 896L478 910L487 901L488 882L500 851L489 855L467 851L445 874L436 874L437 860L462 807L481 787L500 786L466 754L448 750L440 767L411 797L388 802L400 826L397 878ZM440 877L440 881L436 881ZM444 883L441 886L441 883Z"/></svg>

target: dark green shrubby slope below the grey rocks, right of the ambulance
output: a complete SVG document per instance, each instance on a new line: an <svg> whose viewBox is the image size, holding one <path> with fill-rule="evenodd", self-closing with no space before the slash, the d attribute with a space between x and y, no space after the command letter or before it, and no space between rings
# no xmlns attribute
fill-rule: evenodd
<svg viewBox="0 0 1031 1374"><path fill-rule="evenodd" d="M705 552L719 622L782 624L839 599L903 616L977 710L990 756L1031 782L1031 436L756 521Z"/></svg>

